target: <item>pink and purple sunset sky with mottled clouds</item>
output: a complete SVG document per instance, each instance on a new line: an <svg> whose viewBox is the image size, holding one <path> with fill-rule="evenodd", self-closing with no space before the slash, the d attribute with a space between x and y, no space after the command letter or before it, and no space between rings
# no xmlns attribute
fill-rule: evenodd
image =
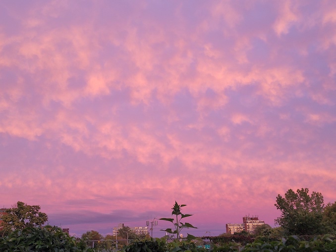
<svg viewBox="0 0 336 252"><path fill-rule="evenodd" d="M336 1L0 1L1 207L215 236L335 185Z"/></svg>

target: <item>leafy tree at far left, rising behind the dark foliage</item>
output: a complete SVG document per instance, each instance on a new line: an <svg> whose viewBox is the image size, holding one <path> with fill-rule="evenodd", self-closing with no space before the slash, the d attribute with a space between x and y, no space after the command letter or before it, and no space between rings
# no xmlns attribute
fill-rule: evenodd
<svg viewBox="0 0 336 252"><path fill-rule="evenodd" d="M7 214L2 216L3 230L41 226L48 220L48 216L46 213L40 212L40 208L39 205L17 202L12 208L6 209Z"/></svg>

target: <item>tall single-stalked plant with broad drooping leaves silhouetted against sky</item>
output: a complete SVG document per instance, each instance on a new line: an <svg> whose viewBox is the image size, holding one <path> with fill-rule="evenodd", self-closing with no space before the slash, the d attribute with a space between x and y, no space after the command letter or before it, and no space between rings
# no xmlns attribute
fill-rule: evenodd
<svg viewBox="0 0 336 252"><path fill-rule="evenodd" d="M171 222L174 225L174 230L171 228L168 228L166 230L161 230L161 231L166 231L169 234L173 234L176 239L178 239L179 234L181 232L182 228L196 228L190 223L185 222L184 224L181 222L182 218L192 216L192 214L183 214L181 213L181 207L186 206L185 204L177 204L175 201L175 204L173 205L171 215L175 215L174 218L161 218L160 220L166 220ZM175 221L175 222L174 222ZM175 236L176 235L176 236ZM194 239L195 237L192 235L187 236L187 239Z"/></svg>

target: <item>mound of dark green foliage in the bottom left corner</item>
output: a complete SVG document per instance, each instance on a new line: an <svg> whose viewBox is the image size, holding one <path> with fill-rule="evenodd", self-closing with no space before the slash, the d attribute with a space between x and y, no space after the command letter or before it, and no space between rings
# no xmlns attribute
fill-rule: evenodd
<svg viewBox="0 0 336 252"><path fill-rule="evenodd" d="M46 226L16 229L0 238L1 252L79 252L76 241L60 228Z"/></svg>

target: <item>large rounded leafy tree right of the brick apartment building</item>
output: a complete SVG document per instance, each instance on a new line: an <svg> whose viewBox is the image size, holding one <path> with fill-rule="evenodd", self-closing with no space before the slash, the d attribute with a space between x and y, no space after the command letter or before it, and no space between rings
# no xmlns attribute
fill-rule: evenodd
<svg viewBox="0 0 336 252"><path fill-rule="evenodd" d="M323 196L313 192L309 196L308 188L289 189L284 198L277 197L275 206L280 209L281 216L275 219L287 235L315 235L323 233Z"/></svg>

